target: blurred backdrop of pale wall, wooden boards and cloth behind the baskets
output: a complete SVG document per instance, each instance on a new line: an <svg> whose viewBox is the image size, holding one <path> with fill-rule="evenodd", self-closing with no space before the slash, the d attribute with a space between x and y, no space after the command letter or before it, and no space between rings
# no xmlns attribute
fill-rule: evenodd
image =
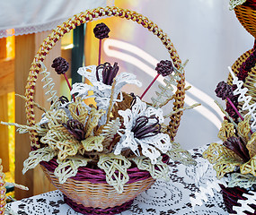
<svg viewBox="0 0 256 215"><path fill-rule="evenodd" d="M186 85L192 88L186 93L186 104L201 103L200 107L186 110L181 117L175 142L184 149L192 149L218 141L217 133L223 115L214 103L216 84L227 79L227 66L254 44L253 37L243 29L228 9L229 0L40 0L0 1L0 121L26 124L24 101L14 97L23 94L31 61L52 29L75 13L97 6L115 5L142 13L171 38L185 67ZM16 14L16 15L13 15ZM102 62L118 62L119 72L137 74L143 82L138 89L128 86L124 90L141 95L154 79L155 65L170 59L160 39L135 22L109 17L88 22L66 34L45 61L50 64L57 56L65 57L71 64L69 80L80 81L76 71L80 66L98 63L99 40L94 38L93 28L105 22L110 28L110 38L103 39ZM62 77L53 73L60 94L68 93ZM158 79L146 93L151 101L154 91L163 79ZM40 82L37 82L40 89ZM46 107L43 90L37 90L35 100ZM170 111L172 107L166 107ZM37 112L36 117L40 118ZM17 191L21 199L53 189L40 168L22 176L22 163L30 152L28 135L15 133L13 127L0 125L0 158L3 159L7 180L30 187L28 193ZM15 174L14 174L15 173Z"/></svg>

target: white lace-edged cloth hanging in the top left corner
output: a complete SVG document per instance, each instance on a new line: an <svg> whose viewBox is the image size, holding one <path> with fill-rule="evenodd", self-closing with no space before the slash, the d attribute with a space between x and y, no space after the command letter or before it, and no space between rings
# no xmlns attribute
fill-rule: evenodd
<svg viewBox="0 0 256 215"><path fill-rule="evenodd" d="M53 30L76 13L98 6L106 0L7 0L0 1L0 38Z"/></svg>

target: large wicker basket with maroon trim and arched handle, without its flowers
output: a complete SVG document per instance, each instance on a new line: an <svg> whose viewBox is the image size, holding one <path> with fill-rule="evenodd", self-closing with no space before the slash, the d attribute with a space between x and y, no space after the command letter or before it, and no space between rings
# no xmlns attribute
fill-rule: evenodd
<svg viewBox="0 0 256 215"><path fill-rule="evenodd" d="M144 28L152 31L154 35L161 39L163 46L167 48L174 66L177 69L180 68L181 59L177 55L171 39L169 39L167 35L163 33L163 30L159 29L154 22L149 21L145 16L117 7L97 8L76 14L74 17L58 26L56 30L53 30L48 38L42 42L40 49L31 64L25 92L26 116L29 125L35 125L36 123L32 101L34 98L36 81L40 72L40 63L44 61L51 48L55 46L57 40L61 39L65 33L75 29L76 26L79 26L82 23L91 22L93 19L102 16L125 18L137 22ZM173 110L181 108L184 105L184 73L180 74L180 76L181 80L177 82L177 90L174 95ZM181 115L182 111L172 115L170 124L167 126L172 140L180 125ZM30 138L32 148L40 143L36 131L30 133ZM64 185L60 185L57 178L53 175L54 165L57 165L56 160L54 159L50 160L48 163L41 162L41 166L49 180L57 187L57 189L65 194L66 202L71 205L75 211L83 212L84 214L115 214L124 211L128 208L137 194L145 191L154 184L154 179L147 172L143 172L137 168L131 168L128 169L130 181L124 188L125 192L119 194L113 187L108 185L105 181L102 181L102 178L105 178L102 170L79 168L79 172L75 177L69 178ZM93 176L93 180L90 181L90 177L88 178L84 176ZM101 178L99 181L95 180L98 176Z"/></svg>

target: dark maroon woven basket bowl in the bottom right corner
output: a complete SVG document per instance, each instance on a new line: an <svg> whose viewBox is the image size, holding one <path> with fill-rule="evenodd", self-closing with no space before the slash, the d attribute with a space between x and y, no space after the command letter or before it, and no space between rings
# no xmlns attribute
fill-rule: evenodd
<svg viewBox="0 0 256 215"><path fill-rule="evenodd" d="M240 200L246 200L247 198L243 197L243 193L247 193L248 191L235 186L235 187L225 187L224 185L220 185L222 189L222 196L223 196L223 202L225 203L225 208L229 213L236 214L235 211L233 211L233 206L241 206L241 203L238 203L237 201ZM256 205L255 204L249 204L249 206L254 210L254 212L244 211L247 215L256 215Z"/></svg>

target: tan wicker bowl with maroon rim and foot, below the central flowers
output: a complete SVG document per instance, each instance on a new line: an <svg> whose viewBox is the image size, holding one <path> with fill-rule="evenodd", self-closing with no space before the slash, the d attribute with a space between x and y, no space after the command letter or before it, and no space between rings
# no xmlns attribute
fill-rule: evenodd
<svg viewBox="0 0 256 215"><path fill-rule="evenodd" d="M41 168L51 183L65 194L66 203L75 211L86 211L88 214L115 214L124 211L138 194L146 191L155 181L148 172L130 168L130 180L124 186L124 192L117 193L113 186L107 184L102 169L81 168L75 177L68 178L66 183L60 185L53 174L54 167L57 167L55 160L41 162Z"/></svg>

